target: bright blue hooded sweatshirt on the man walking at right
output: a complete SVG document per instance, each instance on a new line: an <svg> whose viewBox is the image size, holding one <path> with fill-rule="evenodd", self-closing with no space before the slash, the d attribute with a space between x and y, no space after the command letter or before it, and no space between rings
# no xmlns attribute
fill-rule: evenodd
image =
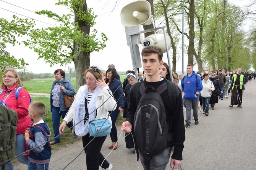
<svg viewBox="0 0 256 170"><path fill-rule="evenodd" d="M184 99L188 100L197 100L199 98L195 97L196 92L201 92L203 89L202 81L199 76L196 78L196 72L192 71L192 75L188 76L188 74L185 76L184 80L181 79L181 87L182 92L185 92Z"/></svg>

